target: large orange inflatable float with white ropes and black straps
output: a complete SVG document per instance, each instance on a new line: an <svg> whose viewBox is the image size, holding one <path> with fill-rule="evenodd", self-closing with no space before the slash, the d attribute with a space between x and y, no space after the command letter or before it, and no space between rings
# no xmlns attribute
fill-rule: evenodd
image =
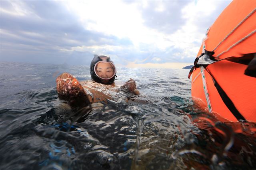
<svg viewBox="0 0 256 170"><path fill-rule="evenodd" d="M234 0L207 30L194 66L194 103L221 121L256 122L256 0Z"/></svg>

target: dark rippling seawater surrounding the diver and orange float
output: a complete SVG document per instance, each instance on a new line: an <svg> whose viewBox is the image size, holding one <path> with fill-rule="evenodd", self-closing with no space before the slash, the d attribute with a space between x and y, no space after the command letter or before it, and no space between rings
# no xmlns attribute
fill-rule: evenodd
<svg viewBox="0 0 256 170"><path fill-rule="evenodd" d="M255 169L256 125L199 111L188 70L118 68L141 95L78 113L56 93L65 71L90 79L86 66L0 63L0 169Z"/></svg>

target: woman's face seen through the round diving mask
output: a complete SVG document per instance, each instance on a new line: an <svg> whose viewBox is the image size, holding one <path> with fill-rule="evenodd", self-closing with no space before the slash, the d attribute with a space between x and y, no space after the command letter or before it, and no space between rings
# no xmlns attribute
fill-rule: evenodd
<svg viewBox="0 0 256 170"><path fill-rule="evenodd" d="M108 78L111 78L114 75L114 67L111 63L99 62L96 65L96 74L98 77L103 78L104 83L108 83Z"/></svg>

